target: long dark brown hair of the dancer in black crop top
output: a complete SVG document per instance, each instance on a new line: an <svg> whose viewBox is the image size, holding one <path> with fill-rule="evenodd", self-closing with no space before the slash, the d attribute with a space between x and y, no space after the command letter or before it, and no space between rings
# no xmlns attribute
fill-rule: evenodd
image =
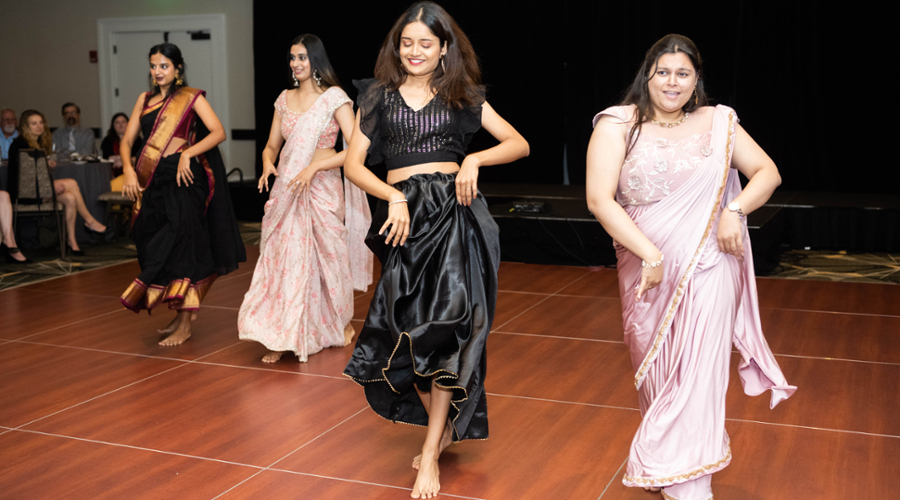
<svg viewBox="0 0 900 500"><path fill-rule="evenodd" d="M431 86L435 92L457 109L476 104L476 95L483 89L475 49L450 14L434 2L416 2L397 19L378 53L375 78L392 92L406 80L407 73L400 61L400 34L414 22L427 26L438 37L441 47L447 44L443 64L432 74Z"/></svg>

